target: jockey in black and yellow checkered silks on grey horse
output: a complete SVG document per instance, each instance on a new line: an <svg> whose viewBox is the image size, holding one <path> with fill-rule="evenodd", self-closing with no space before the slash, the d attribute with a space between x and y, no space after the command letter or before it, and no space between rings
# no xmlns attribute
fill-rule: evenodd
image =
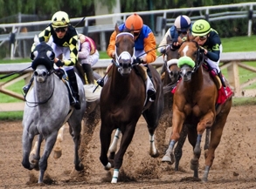
<svg viewBox="0 0 256 189"><path fill-rule="evenodd" d="M78 33L70 24L69 16L64 11L58 11L52 16L52 23L49 24L45 30L39 34L39 42L49 41L52 36L52 49L55 53L54 63L58 67L65 66L64 70L67 73L70 88L73 93L71 105L75 109L80 109L80 96L77 85L75 72L73 71L73 65L78 62L78 51L79 51L79 40ZM36 44L34 43L31 47L31 51L34 50ZM60 60L59 56L63 55L63 60ZM26 94L31 87L31 83L25 85L23 90Z"/></svg>

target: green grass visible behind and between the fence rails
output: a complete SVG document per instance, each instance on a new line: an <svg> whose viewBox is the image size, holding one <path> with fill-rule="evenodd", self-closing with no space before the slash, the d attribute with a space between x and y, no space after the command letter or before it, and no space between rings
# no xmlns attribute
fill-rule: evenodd
<svg viewBox="0 0 256 189"><path fill-rule="evenodd" d="M222 38L222 44L223 44L223 51L224 52L232 52L232 51L255 51L255 44L256 44L256 37L230 37L230 38ZM107 56L106 51L100 51L100 58L109 58ZM7 60L3 59L1 60L1 64L10 64L10 63L26 63L30 62L30 58L24 58L24 59L14 59L14 60ZM256 66L255 62L247 62L245 63L247 65ZM227 71L223 70L223 74L226 75ZM1 75L0 75L1 76ZM4 78L3 81L10 80L10 78L15 77L9 77ZM239 68L239 81L240 83L244 83L248 81L250 78L255 78L256 73L253 73L252 71L247 71L245 69ZM2 82L2 80L0 80ZM21 80L17 82L16 84L10 85L7 89L11 91L15 91L17 93L21 93L22 86L24 86L24 80ZM251 84L248 89L255 89L256 84ZM21 100L18 100L17 98L11 98L10 96L4 95L3 93L0 93L0 103L10 103L10 102L22 102ZM256 98L233 98L233 105L256 105ZM0 120L12 120L12 119L21 119L23 116L23 111L12 111L12 112L1 112L0 113Z"/></svg>

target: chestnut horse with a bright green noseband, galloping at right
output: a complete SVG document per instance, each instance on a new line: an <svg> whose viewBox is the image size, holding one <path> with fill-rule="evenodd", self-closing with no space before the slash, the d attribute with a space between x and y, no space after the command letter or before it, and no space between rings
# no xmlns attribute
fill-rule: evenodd
<svg viewBox="0 0 256 189"><path fill-rule="evenodd" d="M202 181L206 182L226 118L232 107L232 91L223 104L217 105L218 86L210 72L204 69L204 52L200 51L197 42L191 40L183 42L178 53L180 56L178 66L181 69L182 79L177 84L174 93L172 133L170 145L163 161L172 162L174 160L171 158L174 153L174 145L180 138L183 124L189 124L188 138L194 153L190 161L190 168L194 171L194 177L198 178L201 138L205 129L211 130L202 178ZM225 82L227 83L227 81Z"/></svg>

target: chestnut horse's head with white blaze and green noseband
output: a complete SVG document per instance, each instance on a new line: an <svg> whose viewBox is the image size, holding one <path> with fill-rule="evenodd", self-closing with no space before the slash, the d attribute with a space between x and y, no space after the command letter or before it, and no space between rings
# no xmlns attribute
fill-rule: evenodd
<svg viewBox="0 0 256 189"><path fill-rule="evenodd" d="M179 59L177 66L181 69L184 81L190 81L193 72L197 71L204 62L204 53L195 41L184 41L178 51Z"/></svg>

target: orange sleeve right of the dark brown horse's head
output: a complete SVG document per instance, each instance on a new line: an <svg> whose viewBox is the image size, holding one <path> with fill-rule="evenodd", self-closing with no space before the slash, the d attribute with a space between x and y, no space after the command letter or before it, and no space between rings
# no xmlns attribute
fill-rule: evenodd
<svg viewBox="0 0 256 189"><path fill-rule="evenodd" d="M143 62L146 64L153 63L156 60L156 38L153 32L144 38L144 51L147 52L147 55L143 57Z"/></svg>

